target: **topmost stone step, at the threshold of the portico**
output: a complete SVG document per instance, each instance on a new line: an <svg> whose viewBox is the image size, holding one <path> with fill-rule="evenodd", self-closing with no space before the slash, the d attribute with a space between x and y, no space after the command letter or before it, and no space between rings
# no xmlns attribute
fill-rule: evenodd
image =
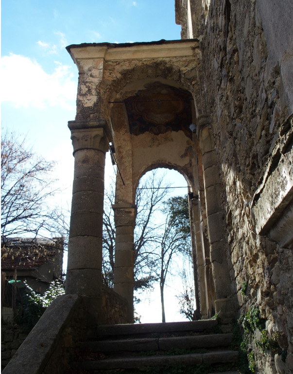
<svg viewBox="0 0 293 374"><path fill-rule="evenodd" d="M122 337L151 334L167 334L182 332L200 332L213 329L218 324L216 319L207 319L187 322L165 322L165 323L137 323L120 325L99 325L91 330L91 337Z"/></svg>

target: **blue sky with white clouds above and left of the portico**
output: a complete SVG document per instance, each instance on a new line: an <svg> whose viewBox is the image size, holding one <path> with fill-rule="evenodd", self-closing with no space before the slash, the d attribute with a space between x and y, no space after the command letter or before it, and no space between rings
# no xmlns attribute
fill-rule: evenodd
<svg viewBox="0 0 293 374"><path fill-rule="evenodd" d="M26 135L38 154L58 162L59 205L71 204L74 159L67 123L75 118L78 79L65 47L173 40L180 31L174 0L2 0L1 130ZM108 163L106 174L112 171ZM186 185L176 175L174 184ZM170 320L167 307L166 316ZM160 311L149 321L159 320Z"/></svg>

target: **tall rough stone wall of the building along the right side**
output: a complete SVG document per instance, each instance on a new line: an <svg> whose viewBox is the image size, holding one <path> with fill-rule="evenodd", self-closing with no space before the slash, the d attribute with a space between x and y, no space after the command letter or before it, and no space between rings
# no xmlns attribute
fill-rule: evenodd
<svg viewBox="0 0 293 374"><path fill-rule="evenodd" d="M192 25L188 3L197 10ZM182 38L192 27L201 40L239 315L256 305L269 334L280 332L278 343L288 352L280 364L279 356L271 360L255 349L257 372L293 373L292 2L186 0L176 8Z"/></svg>

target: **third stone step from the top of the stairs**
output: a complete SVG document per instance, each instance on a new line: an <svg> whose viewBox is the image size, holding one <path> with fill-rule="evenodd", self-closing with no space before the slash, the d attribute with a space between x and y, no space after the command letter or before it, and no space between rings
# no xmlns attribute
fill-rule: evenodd
<svg viewBox="0 0 293 374"><path fill-rule="evenodd" d="M217 351L204 354L188 355L162 355L144 357L123 357L112 359L101 359L99 361L74 362L73 369L77 370L110 370L110 369L139 369L146 367L164 367L168 365L198 365L198 364L220 364L236 362L237 351Z"/></svg>

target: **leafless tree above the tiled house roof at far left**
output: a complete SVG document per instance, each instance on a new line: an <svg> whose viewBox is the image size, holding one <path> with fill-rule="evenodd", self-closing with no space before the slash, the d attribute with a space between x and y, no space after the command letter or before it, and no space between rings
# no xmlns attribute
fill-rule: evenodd
<svg viewBox="0 0 293 374"><path fill-rule="evenodd" d="M54 162L26 147L25 139L6 131L1 137L1 237L56 236L61 214L48 199L58 191ZM58 223L58 224L57 224ZM64 231L64 230L63 230Z"/></svg>

